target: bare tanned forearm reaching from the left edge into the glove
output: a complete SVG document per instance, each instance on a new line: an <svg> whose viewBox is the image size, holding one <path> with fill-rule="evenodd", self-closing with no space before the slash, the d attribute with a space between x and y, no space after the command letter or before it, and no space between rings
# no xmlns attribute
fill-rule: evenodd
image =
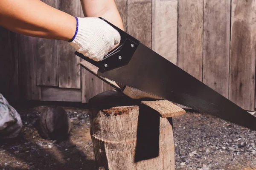
<svg viewBox="0 0 256 170"><path fill-rule="evenodd" d="M0 0L0 26L33 37L70 40L76 19L40 0Z"/></svg>

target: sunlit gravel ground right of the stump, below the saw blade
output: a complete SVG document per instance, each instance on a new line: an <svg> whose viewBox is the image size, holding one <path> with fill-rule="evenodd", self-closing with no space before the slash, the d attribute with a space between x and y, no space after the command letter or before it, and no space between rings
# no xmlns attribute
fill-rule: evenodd
<svg viewBox="0 0 256 170"><path fill-rule="evenodd" d="M256 170L256 132L199 113L173 125L177 170Z"/></svg>

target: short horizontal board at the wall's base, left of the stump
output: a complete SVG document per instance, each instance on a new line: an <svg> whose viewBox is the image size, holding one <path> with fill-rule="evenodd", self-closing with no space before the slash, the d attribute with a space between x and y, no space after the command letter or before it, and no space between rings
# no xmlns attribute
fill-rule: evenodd
<svg viewBox="0 0 256 170"><path fill-rule="evenodd" d="M41 87L41 101L81 102L81 90Z"/></svg>

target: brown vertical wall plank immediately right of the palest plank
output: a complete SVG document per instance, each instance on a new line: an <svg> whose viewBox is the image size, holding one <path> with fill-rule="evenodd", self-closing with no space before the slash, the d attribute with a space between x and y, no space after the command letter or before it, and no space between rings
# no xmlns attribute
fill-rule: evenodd
<svg viewBox="0 0 256 170"><path fill-rule="evenodd" d="M177 65L202 81L204 0L179 0Z"/></svg>

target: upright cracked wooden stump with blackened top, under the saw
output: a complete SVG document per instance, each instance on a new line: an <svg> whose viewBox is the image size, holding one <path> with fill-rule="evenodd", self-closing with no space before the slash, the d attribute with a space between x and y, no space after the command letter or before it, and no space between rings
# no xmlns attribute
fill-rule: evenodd
<svg viewBox="0 0 256 170"><path fill-rule="evenodd" d="M116 91L98 94L89 104L99 170L175 169L171 117L162 118L159 111Z"/></svg>

